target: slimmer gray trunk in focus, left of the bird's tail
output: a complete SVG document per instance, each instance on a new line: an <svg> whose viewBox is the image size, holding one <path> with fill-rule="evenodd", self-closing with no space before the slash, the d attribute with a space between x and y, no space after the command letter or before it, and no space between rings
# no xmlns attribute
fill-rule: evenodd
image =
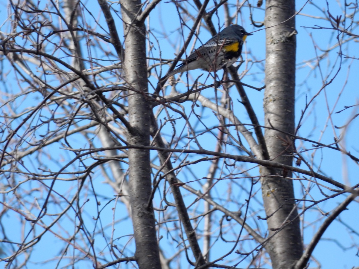
<svg viewBox="0 0 359 269"><path fill-rule="evenodd" d="M125 34L123 66L129 90L129 124L127 141L131 145L149 146L151 109L146 98L147 70L145 25L136 18L141 13L140 0L122 0L121 14ZM130 148L129 189L132 222L136 241L136 261L140 269L161 268L151 194L150 153ZM149 206L148 206L149 204Z"/></svg>

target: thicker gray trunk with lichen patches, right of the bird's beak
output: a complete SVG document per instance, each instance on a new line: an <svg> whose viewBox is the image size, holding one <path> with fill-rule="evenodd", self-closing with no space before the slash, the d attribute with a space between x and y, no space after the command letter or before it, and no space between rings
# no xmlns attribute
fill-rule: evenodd
<svg viewBox="0 0 359 269"><path fill-rule="evenodd" d="M265 140L271 160L292 165L295 92L294 0L266 1ZM278 131L277 131L278 130ZM262 167L262 196L270 240L266 249L274 269L292 268L303 253L291 171Z"/></svg>

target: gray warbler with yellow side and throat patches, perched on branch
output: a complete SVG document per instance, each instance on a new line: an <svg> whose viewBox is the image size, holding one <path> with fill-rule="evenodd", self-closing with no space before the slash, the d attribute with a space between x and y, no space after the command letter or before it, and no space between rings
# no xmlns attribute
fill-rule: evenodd
<svg viewBox="0 0 359 269"><path fill-rule="evenodd" d="M241 55L243 42L247 36L253 36L253 34L247 33L240 25L234 24L224 28L195 49L176 69L162 77L159 82L183 71L202 69L211 72L229 67Z"/></svg>

